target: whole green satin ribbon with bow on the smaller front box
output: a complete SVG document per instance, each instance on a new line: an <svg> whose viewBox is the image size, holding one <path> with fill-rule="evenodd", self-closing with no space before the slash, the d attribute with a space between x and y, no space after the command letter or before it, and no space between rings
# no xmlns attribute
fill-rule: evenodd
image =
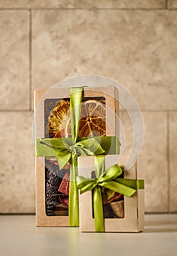
<svg viewBox="0 0 177 256"><path fill-rule="evenodd" d="M84 178L77 176L77 187L80 193L93 190L93 212L95 218L95 231L104 232L103 200L101 187L106 187L127 197L131 197L137 189L144 189L143 180L118 178L122 174L119 165L113 165L104 171L104 156L95 156L95 177Z"/></svg>

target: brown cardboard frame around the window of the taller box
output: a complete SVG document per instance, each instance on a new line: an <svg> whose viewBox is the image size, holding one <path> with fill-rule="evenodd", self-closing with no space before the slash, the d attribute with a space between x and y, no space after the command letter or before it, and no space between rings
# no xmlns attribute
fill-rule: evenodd
<svg viewBox="0 0 177 256"><path fill-rule="evenodd" d="M70 89L41 89L34 92L35 96L35 137L45 138L45 101L49 99L69 99ZM114 86L85 87L83 97L104 97L106 100L106 136L119 138L119 103L118 91ZM36 225L37 226L68 226L68 216L48 216L46 214L46 170L45 157L36 157Z"/></svg>

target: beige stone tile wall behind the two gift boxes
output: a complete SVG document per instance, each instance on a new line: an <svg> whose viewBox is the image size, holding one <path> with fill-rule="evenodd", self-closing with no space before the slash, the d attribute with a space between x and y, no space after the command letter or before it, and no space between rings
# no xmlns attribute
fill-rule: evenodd
<svg viewBox="0 0 177 256"><path fill-rule="evenodd" d="M33 90L75 75L122 83L141 107L146 211L177 211L177 1L0 1L0 212L34 213ZM133 127L121 111L130 150Z"/></svg>

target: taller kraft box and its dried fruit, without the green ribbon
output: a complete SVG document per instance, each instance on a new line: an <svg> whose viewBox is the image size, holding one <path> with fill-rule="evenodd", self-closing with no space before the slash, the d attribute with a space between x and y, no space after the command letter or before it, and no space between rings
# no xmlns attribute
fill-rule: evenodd
<svg viewBox="0 0 177 256"><path fill-rule="evenodd" d="M35 138L71 137L68 120L70 89L41 89L35 91L34 95ZM82 113L81 118L83 115L87 117L90 130L87 125L85 129L82 124L81 129L79 128L79 137L117 136L119 138L117 89L114 86L85 87L82 99L83 109L87 111ZM95 128L92 118L96 120ZM80 124L83 120L85 121L82 118ZM69 169L70 165L67 164L63 170L59 170L55 157L36 157L37 226L68 226Z"/></svg>

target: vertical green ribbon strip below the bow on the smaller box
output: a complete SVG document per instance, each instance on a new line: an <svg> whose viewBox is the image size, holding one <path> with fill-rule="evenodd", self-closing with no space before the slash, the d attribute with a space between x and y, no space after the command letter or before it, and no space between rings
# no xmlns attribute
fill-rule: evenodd
<svg viewBox="0 0 177 256"><path fill-rule="evenodd" d="M103 201L101 187L97 186L93 190L93 212L95 218L95 231L104 232Z"/></svg>

